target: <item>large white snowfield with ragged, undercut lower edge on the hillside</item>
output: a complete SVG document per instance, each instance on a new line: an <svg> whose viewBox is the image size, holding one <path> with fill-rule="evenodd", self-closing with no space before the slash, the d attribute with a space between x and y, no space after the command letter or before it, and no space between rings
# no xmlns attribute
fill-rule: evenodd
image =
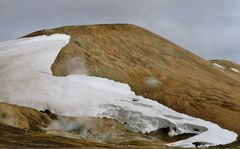
<svg viewBox="0 0 240 149"><path fill-rule="evenodd" d="M58 115L111 117L133 131L169 127L169 136L197 134L168 146L208 147L236 140L236 133L214 123L136 96L127 84L87 75L53 76L50 67L69 38L54 34L0 43L0 101Z"/></svg>

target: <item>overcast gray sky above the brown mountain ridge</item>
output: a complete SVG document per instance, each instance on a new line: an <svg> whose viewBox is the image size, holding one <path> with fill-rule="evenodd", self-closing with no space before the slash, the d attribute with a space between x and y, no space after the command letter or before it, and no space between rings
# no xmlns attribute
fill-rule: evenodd
<svg viewBox="0 0 240 149"><path fill-rule="evenodd" d="M205 59L240 63L240 0L0 0L0 41L99 23L136 24Z"/></svg>

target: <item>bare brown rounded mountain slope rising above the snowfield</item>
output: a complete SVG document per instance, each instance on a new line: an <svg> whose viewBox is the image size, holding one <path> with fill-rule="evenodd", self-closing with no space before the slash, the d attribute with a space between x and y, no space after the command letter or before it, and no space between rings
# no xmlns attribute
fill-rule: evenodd
<svg viewBox="0 0 240 149"><path fill-rule="evenodd" d="M87 72L127 83L139 95L240 132L240 81L210 62L128 24L68 26L25 37L53 33L71 36L54 75Z"/></svg>

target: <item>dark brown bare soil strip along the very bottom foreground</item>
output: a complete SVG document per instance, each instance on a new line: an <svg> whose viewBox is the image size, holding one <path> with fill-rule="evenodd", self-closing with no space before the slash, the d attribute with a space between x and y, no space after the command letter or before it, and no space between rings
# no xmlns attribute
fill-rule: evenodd
<svg viewBox="0 0 240 149"><path fill-rule="evenodd" d="M0 148L71 148L71 149L171 149L144 141L125 142L119 145L90 142L85 139L66 138L36 131L24 131L19 128L0 123ZM239 149L240 141L227 146L212 147L212 149ZM177 148L172 148L177 149Z"/></svg>

